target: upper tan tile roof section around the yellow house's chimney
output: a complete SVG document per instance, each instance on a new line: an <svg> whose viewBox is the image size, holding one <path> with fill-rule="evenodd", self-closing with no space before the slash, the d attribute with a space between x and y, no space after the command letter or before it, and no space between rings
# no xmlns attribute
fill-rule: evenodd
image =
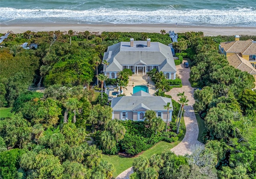
<svg viewBox="0 0 256 179"><path fill-rule="evenodd" d="M238 40L220 43L226 52L243 53L253 42L251 40Z"/></svg>

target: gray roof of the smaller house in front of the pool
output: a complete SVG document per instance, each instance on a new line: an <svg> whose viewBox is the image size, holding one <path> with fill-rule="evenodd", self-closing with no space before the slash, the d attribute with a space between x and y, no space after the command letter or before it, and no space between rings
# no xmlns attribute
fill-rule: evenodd
<svg viewBox="0 0 256 179"><path fill-rule="evenodd" d="M172 99L162 96L120 96L112 99L111 107L113 110L117 111L133 111L140 105L142 107L143 104L148 110L167 111L167 109L164 109L164 105L166 105L167 102L170 102L170 106L172 107ZM169 110L173 111L173 108Z"/></svg>

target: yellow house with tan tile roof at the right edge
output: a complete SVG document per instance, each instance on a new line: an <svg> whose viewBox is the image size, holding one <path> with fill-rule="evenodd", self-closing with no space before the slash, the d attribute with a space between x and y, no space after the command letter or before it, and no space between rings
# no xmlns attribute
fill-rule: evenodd
<svg viewBox="0 0 256 179"><path fill-rule="evenodd" d="M235 41L220 43L220 53L226 55L230 65L248 72L256 81L256 41L241 41L239 38L235 35Z"/></svg>

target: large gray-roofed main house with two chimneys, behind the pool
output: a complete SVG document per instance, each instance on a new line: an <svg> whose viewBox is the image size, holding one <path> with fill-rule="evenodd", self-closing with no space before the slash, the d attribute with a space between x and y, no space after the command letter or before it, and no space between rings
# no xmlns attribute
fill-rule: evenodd
<svg viewBox="0 0 256 179"><path fill-rule="evenodd" d="M163 71L166 79L176 78L176 67L169 46L160 42L134 41L119 42L108 47L103 60L108 61L104 74L110 79L117 77L119 71L131 69L134 74L146 74L156 68ZM106 71L105 71L106 69Z"/></svg>

